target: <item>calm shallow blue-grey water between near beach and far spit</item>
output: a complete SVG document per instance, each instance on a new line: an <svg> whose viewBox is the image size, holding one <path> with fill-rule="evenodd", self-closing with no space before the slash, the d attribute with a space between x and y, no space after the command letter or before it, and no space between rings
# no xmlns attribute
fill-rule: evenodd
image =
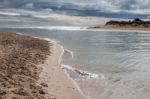
<svg viewBox="0 0 150 99"><path fill-rule="evenodd" d="M34 28L0 30L57 40L67 49L62 64L93 75L83 76L67 69L91 99L150 98L150 33Z"/></svg>

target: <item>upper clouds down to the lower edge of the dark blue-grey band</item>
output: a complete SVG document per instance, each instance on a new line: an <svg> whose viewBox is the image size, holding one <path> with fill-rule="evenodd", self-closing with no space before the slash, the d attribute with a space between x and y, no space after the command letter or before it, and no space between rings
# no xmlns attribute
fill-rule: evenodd
<svg viewBox="0 0 150 99"><path fill-rule="evenodd" d="M0 0L0 10L8 9L74 16L150 18L150 0Z"/></svg>

